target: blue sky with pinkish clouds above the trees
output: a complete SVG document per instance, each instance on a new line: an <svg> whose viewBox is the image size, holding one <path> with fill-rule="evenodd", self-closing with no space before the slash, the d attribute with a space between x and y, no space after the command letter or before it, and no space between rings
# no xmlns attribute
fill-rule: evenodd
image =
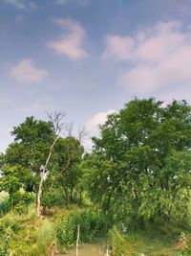
<svg viewBox="0 0 191 256"><path fill-rule="evenodd" d="M27 116L89 138L134 99L191 103L191 0L0 0L0 151Z"/></svg>

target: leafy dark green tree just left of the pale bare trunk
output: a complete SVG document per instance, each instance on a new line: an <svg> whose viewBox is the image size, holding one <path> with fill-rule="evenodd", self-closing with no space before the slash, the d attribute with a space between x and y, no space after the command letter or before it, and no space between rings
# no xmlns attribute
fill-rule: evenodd
<svg viewBox="0 0 191 256"><path fill-rule="evenodd" d="M14 142L4 155L4 163L26 168L29 173L22 180L24 188L36 192L40 166L45 162L53 141L53 125L27 117L24 123L13 128L11 135L14 136Z"/></svg>

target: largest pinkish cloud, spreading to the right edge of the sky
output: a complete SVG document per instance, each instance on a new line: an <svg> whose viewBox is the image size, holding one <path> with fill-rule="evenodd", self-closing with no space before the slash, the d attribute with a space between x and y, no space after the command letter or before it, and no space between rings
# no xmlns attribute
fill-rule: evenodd
<svg viewBox="0 0 191 256"><path fill-rule="evenodd" d="M177 21L160 22L134 36L110 35L103 54L106 60L128 65L119 81L134 93L153 93L178 85L189 90L191 83L191 32Z"/></svg>

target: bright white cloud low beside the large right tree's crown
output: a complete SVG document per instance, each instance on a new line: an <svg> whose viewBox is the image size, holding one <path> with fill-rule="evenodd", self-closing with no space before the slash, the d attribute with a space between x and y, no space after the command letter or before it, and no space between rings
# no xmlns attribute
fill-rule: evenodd
<svg viewBox="0 0 191 256"><path fill-rule="evenodd" d="M115 112L115 110L110 109L106 112L97 113L89 121L86 122L85 129L89 135L89 139L84 141L84 147L86 151L92 150L92 137L99 136L99 126L103 125L107 121L108 115Z"/></svg>

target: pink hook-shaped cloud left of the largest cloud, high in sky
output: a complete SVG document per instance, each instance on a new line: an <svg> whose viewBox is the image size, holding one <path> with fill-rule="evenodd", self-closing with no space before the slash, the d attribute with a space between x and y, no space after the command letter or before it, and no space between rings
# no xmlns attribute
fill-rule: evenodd
<svg viewBox="0 0 191 256"><path fill-rule="evenodd" d="M56 54L66 56L73 60L87 57L88 54L83 49L86 33L82 26L71 19L56 19L55 23L61 26L65 30L65 33L59 39L49 41L48 46Z"/></svg>

